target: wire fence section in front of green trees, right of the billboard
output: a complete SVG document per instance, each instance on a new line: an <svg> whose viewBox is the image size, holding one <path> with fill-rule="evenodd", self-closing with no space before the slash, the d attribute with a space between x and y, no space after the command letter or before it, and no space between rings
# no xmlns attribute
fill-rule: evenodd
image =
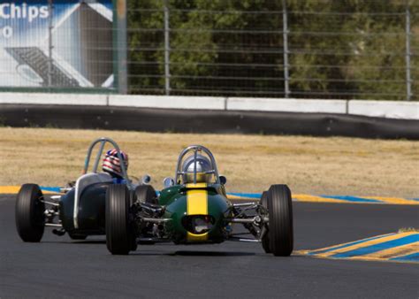
<svg viewBox="0 0 419 299"><path fill-rule="evenodd" d="M128 1L128 92L418 100L416 1Z"/></svg>

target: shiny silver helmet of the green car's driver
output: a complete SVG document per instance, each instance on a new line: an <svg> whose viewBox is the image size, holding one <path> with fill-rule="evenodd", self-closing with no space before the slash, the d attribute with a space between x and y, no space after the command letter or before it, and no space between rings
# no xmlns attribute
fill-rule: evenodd
<svg viewBox="0 0 419 299"><path fill-rule="evenodd" d="M183 182L193 183L194 182L194 155L189 156L185 159L182 165ZM209 183L213 177L213 173L208 173L212 170L211 163L208 157L204 157L200 154L196 155L196 182L197 183Z"/></svg>

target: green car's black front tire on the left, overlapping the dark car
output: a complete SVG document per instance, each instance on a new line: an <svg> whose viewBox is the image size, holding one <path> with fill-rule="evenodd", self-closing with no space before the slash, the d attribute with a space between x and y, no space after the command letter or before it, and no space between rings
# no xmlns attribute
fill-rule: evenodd
<svg viewBox="0 0 419 299"><path fill-rule="evenodd" d="M110 185L106 192L106 247L112 255L127 255L135 249L129 221L130 196L126 185Z"/></svg>

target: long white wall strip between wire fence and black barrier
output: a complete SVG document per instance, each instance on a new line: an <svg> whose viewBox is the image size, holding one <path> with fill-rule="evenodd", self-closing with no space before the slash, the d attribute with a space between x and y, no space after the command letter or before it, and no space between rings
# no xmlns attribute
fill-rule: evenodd
<svg viewBox="0 0 419 299"><path fill-rule="evenodd" d="M211 111L335 113L386 119L419 119L419 102L272 99L224 96L120 96L0 93L1 103L116 106Z"/></svg>

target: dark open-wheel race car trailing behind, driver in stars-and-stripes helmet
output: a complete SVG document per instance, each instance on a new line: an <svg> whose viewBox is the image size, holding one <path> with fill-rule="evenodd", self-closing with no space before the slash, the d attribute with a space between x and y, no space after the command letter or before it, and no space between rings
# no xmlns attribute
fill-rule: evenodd
<svg viewBox="0 0 419 299"><path fill-rule="evenodd" d="M105 144L110 149L102 154ZM95 163L88 171L92 152L98 145ZM103 173L98 172L103 162ZM84 240L88 235L105 234L105 196L108 188L115 184L131 190L134 200L149 198L156 200L156 191L146 183L149 176L144 176L142 184L134 185L127 175L128 157L118 144L110 138L100 138L88 148L83 173L67 187L61 188L62 196L43 196L36 184L24 184L16 200L16 227L24 242L40 242L45 226L52 226L53 234L67 233L72 240Z"/></svg>

